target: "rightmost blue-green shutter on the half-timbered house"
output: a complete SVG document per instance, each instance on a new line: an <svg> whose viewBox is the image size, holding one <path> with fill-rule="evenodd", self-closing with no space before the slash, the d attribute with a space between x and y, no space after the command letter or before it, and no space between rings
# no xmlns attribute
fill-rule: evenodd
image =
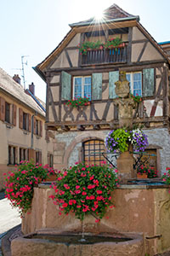
<svg viewBox="0 0 170 256"><path fill-rule="evenodd" d="M154 68L143 69L143 96L153 96L155 90Z"/></svg>

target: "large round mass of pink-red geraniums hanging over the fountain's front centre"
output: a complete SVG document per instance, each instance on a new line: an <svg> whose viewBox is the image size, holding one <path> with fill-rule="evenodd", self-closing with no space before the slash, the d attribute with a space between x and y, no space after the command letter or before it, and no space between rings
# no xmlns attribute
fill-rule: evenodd
<svg viewBox="0 0 170 256"><path fill-rule="evenodd" d="M101 166L88 166L75 163L64 173L60 173L58 183L53 185L55 194L49 197L59 206L59 215L74 212L83 219L85 214L92 214L99 222L111 202L111 192L118 184L117 171L103 162Z"/></svg>

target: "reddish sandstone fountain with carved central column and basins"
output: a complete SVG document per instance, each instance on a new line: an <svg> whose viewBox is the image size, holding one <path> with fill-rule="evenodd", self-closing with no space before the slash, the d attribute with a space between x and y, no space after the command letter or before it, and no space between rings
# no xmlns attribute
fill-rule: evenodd
<svg viewBox="0 0 170 256"><path fill-rule="evenodd" d="M116 82L116 103L121 127L132 128L133 99L125 73ZM131 150L131 149L130 149ZM117 160L122 180L135 177L133 154L125 152ZM150 256L170 248L170 194L166 185L122 184L114 193L116 208L95 223L88 216L83 224L73 214L59 216L49 195L48 183L34 189L31 214L22 220L24 237L12 241L12 256Z"/></svg>

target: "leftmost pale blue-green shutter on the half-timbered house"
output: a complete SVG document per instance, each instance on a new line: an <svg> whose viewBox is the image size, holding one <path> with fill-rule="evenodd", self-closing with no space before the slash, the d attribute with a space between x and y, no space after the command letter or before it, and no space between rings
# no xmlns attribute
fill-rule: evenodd
<svg viewBox="0 0 170 256"><path fill-rule="evenodd" d="M61 100L71 99L71 74L62 71L61 73Z"/></svg>

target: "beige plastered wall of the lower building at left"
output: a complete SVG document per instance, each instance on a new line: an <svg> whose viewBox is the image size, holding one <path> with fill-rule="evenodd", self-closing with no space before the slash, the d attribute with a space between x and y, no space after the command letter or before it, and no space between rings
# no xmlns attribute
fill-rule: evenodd
<svg viewBox="0 0 170 256"><path fill-rule="evenodd" d="M2 92L0 96L9 104L16 105L15 126L0 120L0 189L2 189L3 172L14 170L14 166L8 166L8 145L17 148L17 163L20 161L20 148L31 148L31 132L19 128L19 108L22 108L26 113L30 113L31 116L35 111L14 100L12 96L4 95ZM48 143L45 140L45 117L37 114L36 118L42 121L42 137L33 135L33 149L42 152L42 165L45 165L48 163L48 153L53 154L53 143L52 139Z"/></svg>

